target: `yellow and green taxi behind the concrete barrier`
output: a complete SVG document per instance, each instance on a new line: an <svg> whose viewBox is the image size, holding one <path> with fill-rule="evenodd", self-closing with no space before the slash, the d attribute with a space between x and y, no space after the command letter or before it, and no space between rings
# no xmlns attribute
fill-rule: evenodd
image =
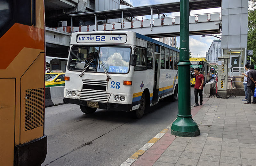
<svg viewBox="0 0 256 166"><path fill-rule="evenodd" d="M61 70L52 70L45 73L45 87L55 87L65 85L65 73Z"/></svg>

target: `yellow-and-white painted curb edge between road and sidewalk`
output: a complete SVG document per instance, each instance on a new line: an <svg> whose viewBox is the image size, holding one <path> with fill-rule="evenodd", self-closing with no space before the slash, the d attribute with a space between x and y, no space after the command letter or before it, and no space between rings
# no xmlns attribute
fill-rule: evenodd
<svg viewBox="0 0 256 166"><path fill-rule="evenodd" d="M208 100L208 99L207 99ZM207 102L207 100L205 102ZM190 107L190 110L192 111L192 109L196 109L196 108L202 108L202 107L194 107L195 104L193 104ZM199 111L199 110L198 110ZM198 112L197 111L197 112ZM197 113L196 112L196 113ZM194 115L195 116L195 115ZM194 117L193 116L193 117ZM177 117L174 119L174 121L177 119ZM174 122L173 121L173 122ZM172 122L172 123L173 123ZM143 155L150 147L152 147L160 138L162 138L164 136L164 134L166 134L172 127L172 123L169 124L165 129L163 129L161 132L159 132L158 134L156 134L155 137L153 137L151 140L148 141L148 143L146 143L143 147L141 147L137 152L135 152L131 157L129 157L127 160L125 160L120 166L130 166L132 165L133 162L135 162L141 155ZM176 136L174 136L176 138ZM175 139L174 138L174 139Z"/></svg>

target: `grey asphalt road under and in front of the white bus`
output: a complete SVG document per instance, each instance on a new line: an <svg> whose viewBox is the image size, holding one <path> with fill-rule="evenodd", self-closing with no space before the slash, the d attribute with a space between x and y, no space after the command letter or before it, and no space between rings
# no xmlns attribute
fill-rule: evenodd
<svg viewBox="0 0 256 166"><path fill-rule="evenodd" d="M119 166L171 124L177 114L178 99L161 100L140 119L133 119L129 112L101 109L85 115L74 104L45 108L48 152L42 165Z"/></svg>

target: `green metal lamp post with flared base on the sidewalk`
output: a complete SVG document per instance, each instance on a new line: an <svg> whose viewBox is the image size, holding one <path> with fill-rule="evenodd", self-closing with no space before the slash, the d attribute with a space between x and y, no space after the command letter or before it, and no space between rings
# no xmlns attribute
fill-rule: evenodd
<svg viewBox="0 0 256 166"><path fill-rule="evenodd" d="M190 65L189 0L180 0L179 114L172 124L171 133L181 137L196 137L200 134L190 110Z"/></svg>

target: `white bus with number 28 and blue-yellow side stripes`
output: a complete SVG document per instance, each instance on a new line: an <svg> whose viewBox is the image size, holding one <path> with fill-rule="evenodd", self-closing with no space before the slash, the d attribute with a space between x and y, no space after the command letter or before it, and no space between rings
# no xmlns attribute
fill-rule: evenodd
<svg viewBox="0 0 256 166"><path fill-rule="evenodd" d="M85 114L132 111L136 118L159 99L175 101L179 50L135 32L73 33L64 103Z"/></svg>

